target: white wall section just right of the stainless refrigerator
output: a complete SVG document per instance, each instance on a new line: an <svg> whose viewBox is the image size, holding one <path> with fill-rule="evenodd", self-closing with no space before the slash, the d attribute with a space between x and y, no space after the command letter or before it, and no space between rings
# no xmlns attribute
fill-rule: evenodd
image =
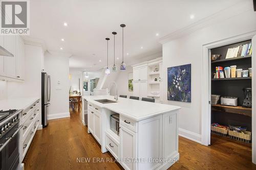
<svg viewBox="0 0 256 170"><path fill-rule="evenodd" d="M45 70L51 76L52 86L49 119L69 117L69 55L45 53Z"/></svg>

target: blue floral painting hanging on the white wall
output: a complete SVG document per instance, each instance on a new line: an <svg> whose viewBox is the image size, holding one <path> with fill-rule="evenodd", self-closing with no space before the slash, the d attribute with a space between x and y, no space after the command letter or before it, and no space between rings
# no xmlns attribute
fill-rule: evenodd
<svg viewBox="0 0 256 170"><path fill-rule="evenodd" d="M191 103L191 64L168 67L168 100Z"/></svg>

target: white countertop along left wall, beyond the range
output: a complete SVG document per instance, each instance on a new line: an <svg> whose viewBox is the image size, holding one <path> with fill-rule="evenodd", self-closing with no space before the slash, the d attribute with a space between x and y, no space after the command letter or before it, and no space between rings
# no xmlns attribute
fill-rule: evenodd
<svg viewBox="0 0 256 170"><path fill-rule="evenodd" d="M16 99L0 100L0 110L26 109L31 104L36 102L38 99L39 98L16 98Z"/></svg>

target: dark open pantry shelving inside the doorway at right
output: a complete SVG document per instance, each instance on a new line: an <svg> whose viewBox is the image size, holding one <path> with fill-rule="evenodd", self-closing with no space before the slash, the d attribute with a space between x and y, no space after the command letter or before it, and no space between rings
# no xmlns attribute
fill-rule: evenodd
<svg viewBox="0 0 256 170"><path fill-rule="evenodd" d="M233 96L238 98L238 106L224 106L220 105L220 101L217 105L211 105L211 124L219 123L221 125L235 125L247 127L247 131L251 131L251 108L242 107L244 99L245 87L252 87L251 77L242 78L223 78L213 79L213 74L216 71L216 66L227 67L231 65L237 65L238 68L247 70L251 67L251 55L244 57L228 58L226 59L226 53L228 48L237 47L250 43L251 40L237 42L210 50L211 54L221 54L221 58L211 62L211 94L218 94L221 96Z"/></svg>

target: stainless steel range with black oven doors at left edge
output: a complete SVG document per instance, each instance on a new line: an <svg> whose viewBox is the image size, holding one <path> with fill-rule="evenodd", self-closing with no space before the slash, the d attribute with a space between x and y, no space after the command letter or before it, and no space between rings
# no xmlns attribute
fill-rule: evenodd
<svg viewBox="0 0 256 170"><path fill-rule="evenodd" d="M19 165L19 113L22 110L0 111L0 169L17 169Z"/></svg>

